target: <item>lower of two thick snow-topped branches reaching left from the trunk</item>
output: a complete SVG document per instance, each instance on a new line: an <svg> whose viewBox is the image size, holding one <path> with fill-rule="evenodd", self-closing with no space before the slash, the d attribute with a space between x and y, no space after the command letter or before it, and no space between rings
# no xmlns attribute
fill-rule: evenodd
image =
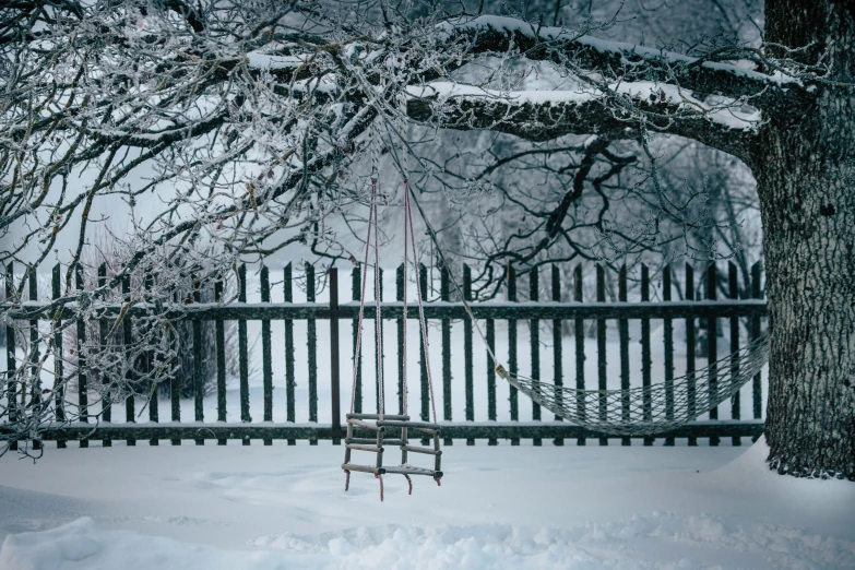
<svg viewBox="0 0 855 570"><path fill-rule="evenodd" d="M637 140L649 129L739 156L761 120L759 111L734 102L711 105L691 92L651 82L504 93L435 82L411 86L407 94L407 114L415 120L458 130L497 130L538 142L590 133Z"/></svg>

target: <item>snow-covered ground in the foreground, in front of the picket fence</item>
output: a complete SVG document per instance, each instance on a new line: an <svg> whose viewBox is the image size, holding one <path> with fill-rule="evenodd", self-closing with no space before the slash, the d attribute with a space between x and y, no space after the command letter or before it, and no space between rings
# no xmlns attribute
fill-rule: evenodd
<svg viewBox="0 0 855 570"><path fill-rule="evenodd" d="M855 568L855 485L751 448L447 448L442 487L343 449L50 449L0 460L2 570Z"/></svg>

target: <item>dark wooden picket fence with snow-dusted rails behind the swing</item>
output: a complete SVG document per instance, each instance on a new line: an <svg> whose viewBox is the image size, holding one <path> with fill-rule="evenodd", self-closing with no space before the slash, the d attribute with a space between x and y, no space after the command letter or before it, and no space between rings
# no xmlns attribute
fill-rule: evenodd
<svg viewBox="0 0 855 570"><path fill-rule="evenodd" d="M664 382L666 387L673 384L675 378L674 354L674 320L685 320L686 326L686 373L691 375L696 370L696 347L697 331L696 326L700 323L705 325L706 346L705 359L712 364L719 359L717 343L719 320L727 319L729 325L731 353L736 353L740 348L739 343L739 320L748 320L748 341L759 336L761 330L761 319L767 314L765 301L762 300L760 264L751 268L750 290L751 299L739 299L739 289L737 286L736 266L728 264L726 282L724 276L719 274L715 264L710 264L708 270L701 275L706 299L696 299L696 281L692 266L686 265L685 292L682 297L689 300L672 300L673 271L666 266L662 273L661 301L651 301L651 283L648 268L641 266L640 276L640 301L628 302L628 278L627 270L622 268L618 273L618 301L606 301L606 270L602 265L596 265L596 301L584 302L583 300L583 274L582 265L579 264L572 272L573 287L572 301L562 301L561 295L561 274L557 265L550 268L550 301L541 301L542 292L539 275L537 271L529 275L529 300L518 301L516 276L513 271L506 275L507 300L506 301L473 301L472 311L475 317L483 321L486 341L495 349L496 344L496 321L506 321L508 323L508 360L507 365L512 373L518 371L520 354L518 352L518 331L516 322L527 320L531 324L531 334L529 339L529 364L531 366L530 376L533 379L544 381L550 380L556 385L565 384L565 372L562 365L562 352L566 348L567 339L562 336L562 322L572 321L574 332L575 371L574 388L577 389L598 389L607 388L607 343L606 330L607 321L616 320L619 337L619 359L620 359L620 385L621 389L630 388L630 357L629 357L629 321L640 320L641 331L641 376L642 385L650 385L651 378L651 320L661 319L663 322L664 335ZM88 384L96 383L97 371L87 370L86 373L78 376L78 399L74 405L78 406L76 421L59 423L57 427L48 428L43 434L45 440L57 440L60 447L64 447L67 440L80 440L81 447L85 447L88 440L102 440L105 446L109 446L112 440L124 440L129 446L135 444L138 439L147 439L151 444L157 444L161 439L170 440L173 444L180 444L181 440L195 440L197 444L203 444L205 440L216 440L218 444L226 444L227 440L241 440L244 444L249 444L252 439L261 439L264 444L271 444L274 439L287 440L294 444L297 439L307 439L311 443L317 443L320 439L331 439L333 443L339 444L344 435L341 425L341 376L340 369L342 363L340 353L340 331L339 322L349 320L353 326L355 337L357 318L358 318L358 293L360 283L360 268L354 268L352 271L352 297L351 302L340 302L339 300L339 272L336 269L329 270L326 284L329 288L329 302L316 301L316 275L314 268L311 264L305 266L305 284L307 302L293 302L293 270L288 264L282 274L282 285L284 302L271 302L270 271L268 268L261 268L260 272L260 304L247 302L247 270L246 265L238 268L237 298L238 302L222 304L224 284L217 282L214 284L214 299L216 302L200 302L201 296L199 288L193 293L193 302L189 305L176 305L175 317L182 317L192 323L192 351L193 363L202 361L202 334L201 326L203 321L213 321L216 328L216 411L215 423L205 423L204 415L204 378L202 378L201 367L193 366L193 421L181 421L180 390L177 389L179 379L174 375L169 379L170 390L170 420L161 421L161 411L158 408L157 397L151 397L147 401L149 423L136 424L136 412L134 409L134 397L124 399L126 411L124 424L112 424L112 407L122 404L122 402L111 402L109 397L100 397L105 391L100 389L99 407L95 412L90 409L87 392L92 388ZM497 421L497 399L496 399L496 373L491 366L487 367L487 418L488 421L475 421L474 414L474 366L473 366L473 324L468 319L463 305L459 301L452 301L452 287L450 274L444 269L440 270L439 298L428 299L427 270L423 266L419 278L421 281L421 292L424 300L428 301L425 306L425 316L428 320L440 321L441 328L441 387L437 387L438 393L441 393L442 402L442 427L446 444L451 444L454 439L465 439L467 444L474 444L476 439L487 439L490 444L498 442L498 439L509 439L512 444L519 444L521 439L531 439L535 446L542 444L544 438L554 438L556 444L563 444L565 439L577 439L579 444L585 444L587 438L597 439L599 444L608 444L608 439L616 438L611 435L594 432L578 425L561 421L561 418L555 417L555 420L544 421L541 408L537 404L532 404L533 421L520 421L520 402L519 394L513 387L510 387L510 421ZM7 298L12 298L13 277L12 268L7 272ZM106 265L98 270L98 283L106 283ZM60 285L59 265L54 269L52 289L54 298L59 297ZM726 283L726 287L722 287ZM127 284L122 284L127 288ZM472 272L468 266L463 268L463 295L472 300ZM201 284L199 284L201 287ZM79 287L82 287L82 281L79 281ZM727 292L727 299L717 299L717 289L724 288ZM403 269L399 268L396 275L396 300L382 300L383 292L380 290L382 318L384 320L396 321L396 341L397 341L397 413L402 413L402 370L403 370ZM187 302L187 301L186 301ZM36 280L31 278L29 299L15 307L5 305L9 310L9 317L12 319L27 320L31 325L31 341L38 342L39 333L37 330L38 320L47 320L55 317L56 312L48 316L48 302L39 302L37 299ZM11 310L10 310L11 309ZM72 308L66 308L68 317L73 314ZM123 337L132 336L132 320L134 317L144 314L149 310L145 304L139 304L133 307L123 307L120 304L104 304L98 307L100 317L99 323L102 335L106 330L106 323L123 312ZM163 308L162 308L163 310ZM167 310L164 314L169 314ZM367 319L373 319L375 308L366 306L365 316ZM63 313L62 317L66 317ZM408 319L417 319L418 311L409 310ZM238 360L239 360L239 392L240 392L240 419L241 423L227 423L226 415L226 364L225 364L225 332L224 323L226 321L237 321L238 323ZM249 341L247 333L247 321L261 321L261 361L263 378L263 423L252 423L250 416L249 397ZM296 423L296 401L295 401L295 346L294 346L294 322L306 321L307 347L308 347L308 423ZM318 333L317 321L329 321L329 345L330 363L329 367L320 367L328 375L323 379L330 385L330 401L325 404L331 408L331 423L318 423ZM463 378L464 378L464 397L465 397L465 420L452 418L452 358L451 358L451 324L452 321L463 321ZM596 382L586 382L584 360L584 322L592 320L596 324L596 353L597 353L597 375ZM284 353L285 353L285 406L286 421L273 423L273 372L271 343L271 321L283 321L285 325ZM541 371L541 321L551 323L553 335L553 377L547 379L542 377ZM85 326L79 323L76 328L78 353L80 354L80 343L85 342ZM60 333L61 334L61 333ZM55 339L57 346L62 345L62 339ZM423 420L429 420L429 401L427 369L424 357L424 348L420 349L419 358L419 403L420 417ZM12 340L12 330L7 334L7 369L15 369L15 346ZM348 359L348 364L352 360ZM363 412L363 366L361 355L357 365L356 392L354 409L357 413ZM348 367L349 368L349 367ZM61 381L63 373L61 363L55 367L58 373L58 380ZM682 372L682 371L680 371ZM349 373L346 375L349 379ZM691 382L691 376L689 382ZM88 384L87 384L88 383ZM347 382L349 383L349 382ZM439 382L438 382L439 384ZM325 385L325 384L324 384ZM733 438L734 444L739 444L740 438L750 437L756 439L762 432L762 394L761 394L760 375L752 379L752 419L744 420L741 418L741 403L737 392L732 402L732 417L728 420L719 418L717 408L710 411L709 420L692 421L679 429L657 436L657 439L664 439L666 446L673 446L675 438L688 438L689 444L697 444L698 438L709 438L711 446L717 446L720 438ZM109 391L107 391L109 392ZM151 388L149 393L154 393ZM26 394L20 394L22 404L26 405ZM36 397L31 395L31 397ZM672 399L673 400L673 399ZM373 405L373 402L371 403ZM370 407L370 406L369 406ZM392 406L388 405L388 409ZM390 409L391 411L391 409ZM627 411L628 413L628 411ZM56 409L57 419L63 419L63 405L59 403ZM93 423L97 419L96 423ZM458 420L455 420L458 419ZM4 428L0 424L0 431ZM617 437L624 444L630 443L629 437ZM644 444L652 444L654 438L645 437Z"/></svg>

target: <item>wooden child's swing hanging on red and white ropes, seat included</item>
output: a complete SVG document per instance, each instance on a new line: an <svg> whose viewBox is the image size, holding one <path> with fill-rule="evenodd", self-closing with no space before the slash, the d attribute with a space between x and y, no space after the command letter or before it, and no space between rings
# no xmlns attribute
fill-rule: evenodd
<svg viewBox="0 0 855 570"><path fill-rule="evenodd" d="M368 274L368 252L371 249L371 239L373 234L373 251L375 251L375 290L380 290L380 272L379 262L380 253L378 247L378 231L377 231L377 178L371 178L371 202L368 214L368 236L365 244L365 262L363 271L361 292L359 295L359 324L356 335L356 352L359 354L359 349L363 342L363 317L365 312L365 284L366 276ZM375 296L375 345L377 349L377 391L378 391L378 409L376 414L355 414L354 402L356 396L356 376L358 369L358 356L354 358L354 376L353 387L351 389L351 413L346 415L347 420L347 435L345 439L344 463L342 470L345 473L345 486L344 490L348 490L351 486L351 472L356 471L360 473L373 473L375 477L380 482L380 500L383 500L383 475L385 474L399 474L406 477L409 486L409 495L413 494L413 480L411 475L427 475L432 477L440 484L442 478L441 460L442 450L439 444L440 426L437 424L437 408L434 400L434 384L430 378L430 360L428 358L428 343L427 343L427 328L425 322L425 311L421 306L421 286L418 281L417 274L417 261L416 261L416 245L415 234L413 231L413 214L409 207L409 186L407 180L404 179L404 355L406 355L406 287L407 278L406 271L409 268L409 249L413 253L413 269L416 272L416 289L418 297L418 319L421 330L421 342L424 344L425 365L427 368L428 387L430 390L430 405L434 415L434 423L425 421L412 421L409 416L406 415L406 359L403 366L403 414L391 415L383 413L383 361L381 355L381 346L383 342L382 335L382 321L380 314L380 298ZM354 428L360 428L363 430L372 431L375 437L354 437ZM418 447L411 446L408 440L409 430L415 430L425 436L431 436L434 439L432 447ZM399 465L384 465L383 452L385 447L397 447L401 450L401 463ZM363 451L376 454L373 464L365 465L352 463L351 455L353 451ZM426 455L434 455L434 468L418 467L408 463L408 453L419 453Z"/></svg>

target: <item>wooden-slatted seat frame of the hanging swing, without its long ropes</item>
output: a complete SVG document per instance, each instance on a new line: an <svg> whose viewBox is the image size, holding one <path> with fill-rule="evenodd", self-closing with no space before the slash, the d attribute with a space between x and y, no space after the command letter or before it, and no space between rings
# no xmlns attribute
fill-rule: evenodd
<svg viewBox="0 0 855 570"><path fill-rule="evenodd" d="M439 434L441 428L438 424L411 421L409 416L393 414L384 414L383 419L380 419L379 414L347 414L345 417L347 420L347 435L344 440L345 452L342 470L348 474L348 479L349 472L355 471L359 473L372 473L377 477L385 474L404 475L407 479L409 479L409 475L426 475L432 477L437 484L439 484L439 480L442 478L442 450L439 447ZM354 437L354 427L376 431L377 437ZM408 429L430 434L434 439L434 447L411 446L407 439ZM387 432L389 432L391 437L385 438L384 436ZM394 436L392 436L392 432L394 432ZM387 450L387 447L396 447L401 450L400 465L383 465L383 452ZM352 451L375 453L377 458L375 464L365 465L352 463ZM434 468L409 465L407 463L408 453L434 455Z"/></svg>

